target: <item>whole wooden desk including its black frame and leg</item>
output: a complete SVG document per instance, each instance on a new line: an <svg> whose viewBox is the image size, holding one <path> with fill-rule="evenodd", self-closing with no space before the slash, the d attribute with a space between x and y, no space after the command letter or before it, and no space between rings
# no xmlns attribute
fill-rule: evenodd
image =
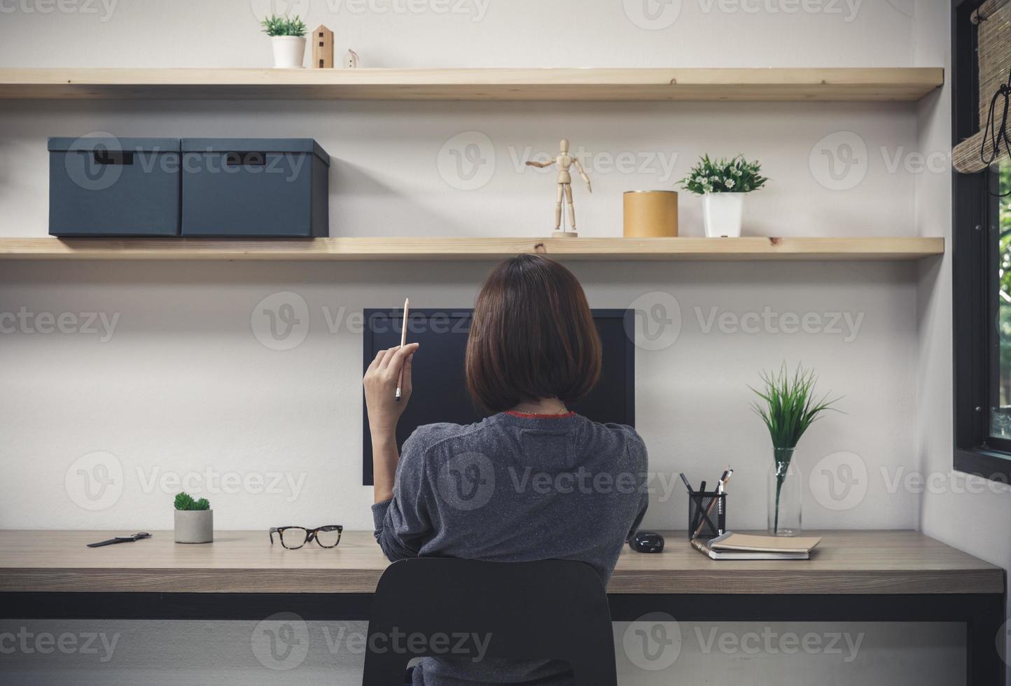
<svg viewBox="0 0 1011 686"><path fill-rule="evenodd" d="M388 563L367 531L297 551L266 531L216 531L186 546L171 531L86 548L116 531L0 531L0 616L366 619ZM123 531L118 531L122 534ZM1005 572L915 531L823 531L810 561L715 562L683 532L667 550L628 549L608 588L612 616L666 612L686 621L959 621L969 683L1005 683L995 651Z"/></svg>

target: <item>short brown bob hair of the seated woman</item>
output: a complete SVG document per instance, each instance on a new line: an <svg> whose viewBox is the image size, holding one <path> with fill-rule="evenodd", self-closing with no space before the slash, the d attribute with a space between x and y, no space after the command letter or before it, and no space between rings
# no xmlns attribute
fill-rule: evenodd
<svg viewBox="0 0 1011 686"><path fill-rule="evenodd" d="M601 377L601 337L572 272L531 254L491 270L477 294L466 376L474 403L490 412L584 397Z"/></svg>

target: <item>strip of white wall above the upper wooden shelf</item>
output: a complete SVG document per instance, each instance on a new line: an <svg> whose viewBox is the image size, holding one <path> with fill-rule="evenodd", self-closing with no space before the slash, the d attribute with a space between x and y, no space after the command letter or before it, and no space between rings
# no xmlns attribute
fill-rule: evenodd
<svg viewBox="0 0 1011 686"><path fill-rule="evenodd" d="M804 3L814 11L765 0L62 4L89 11L0 5L4 23L15 26L4 30L6 66L270 67L257 17L271 7L299 14L310 28L327 24L338 50L355 48L365 67L907 67L913 58L913 0Z"/></svg>

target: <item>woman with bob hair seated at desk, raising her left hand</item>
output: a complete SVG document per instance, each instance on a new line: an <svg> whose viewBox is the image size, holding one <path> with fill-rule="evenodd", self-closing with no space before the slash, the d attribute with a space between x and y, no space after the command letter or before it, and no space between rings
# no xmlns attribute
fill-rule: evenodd
<svg viewBox="0 0 1011 686"><path fill-rule="evenodd" d="M397 455L396 423L410 398L418 350L409 344L380 351L364 379L375 536L386 557L576 560L607 585L646 511L646 447L629 426L567 409L601 375L600 336L575 276L535 255L491 271L477 296L465 364L467 388L490 416L466 426L420 426ZM440 471L461 456L468 464L449 467L460 468L455 486L463 490L447 489ZM541 476L537 483L555 486L535 489L540 475L550 481ZM593 487L629 475L633 488ZM416 686L572 683L568 666L554 660L427 658L411 678Z"/></svg>

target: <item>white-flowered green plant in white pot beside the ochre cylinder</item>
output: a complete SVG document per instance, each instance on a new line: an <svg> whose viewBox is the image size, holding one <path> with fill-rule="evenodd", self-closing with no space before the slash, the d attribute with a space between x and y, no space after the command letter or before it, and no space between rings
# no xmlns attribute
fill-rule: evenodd
<svg viewBox="0 0 1011 686"><path fill-rule="evenodd" d="M732 160L710 160L707 155L681 179L681 186L702 196L708 237L737 237L741 234L744 196L757 191L768 181L759 172L761 165L748 162L742 155Z"/></svg>

